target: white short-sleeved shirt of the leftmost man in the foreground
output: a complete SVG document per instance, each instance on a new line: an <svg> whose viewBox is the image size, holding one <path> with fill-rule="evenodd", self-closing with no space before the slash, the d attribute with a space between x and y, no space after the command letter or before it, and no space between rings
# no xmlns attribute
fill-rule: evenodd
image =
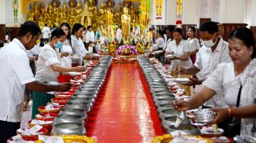
<svg viewBox="0 0 256 143"><path fill-rule="evenodd" d="M26 49L14 39L0 49L0 120L21 122L25 84L35 81Z"/></svg>

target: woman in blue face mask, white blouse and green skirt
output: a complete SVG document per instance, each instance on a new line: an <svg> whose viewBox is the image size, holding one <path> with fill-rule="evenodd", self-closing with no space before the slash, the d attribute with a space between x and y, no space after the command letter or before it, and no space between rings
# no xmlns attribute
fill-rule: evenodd
<svg viewBox="0 0 256 143"><path fill-rule="evenodd" d="M57 81L59 72L69 71L85 71L82 66L78 67L62 67L61 62L56 55L56 49L62 48L62 43L66 40L66 34L61 29L53 30L50 42L40 48L36 79L40 82ZM33 106L32 106L32 119L38 113L38 106L44 106L50 101L53 95L34 92L33 93Z"/></svg>

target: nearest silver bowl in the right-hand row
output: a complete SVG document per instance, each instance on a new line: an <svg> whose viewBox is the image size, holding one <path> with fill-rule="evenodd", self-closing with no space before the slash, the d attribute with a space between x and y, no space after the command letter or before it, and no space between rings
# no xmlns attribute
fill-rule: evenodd
<svg viewBox="0 0 256 143"><path fill-rule="evenodd" d="M190 124L181 124L178 128L175 128L174 125L168 127L168 133L177 130L181 131L182 135L201 135L200 131Z"/></svg>

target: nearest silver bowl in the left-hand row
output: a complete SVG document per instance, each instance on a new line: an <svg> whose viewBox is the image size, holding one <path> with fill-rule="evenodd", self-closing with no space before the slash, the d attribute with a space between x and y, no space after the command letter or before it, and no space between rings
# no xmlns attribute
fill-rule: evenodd
<svg viewBox="0 0 256 143"><path fill-rule="evenodd" d="M85 126L77 122L62 122L53 126L51 135L85 135Z"/></svg>

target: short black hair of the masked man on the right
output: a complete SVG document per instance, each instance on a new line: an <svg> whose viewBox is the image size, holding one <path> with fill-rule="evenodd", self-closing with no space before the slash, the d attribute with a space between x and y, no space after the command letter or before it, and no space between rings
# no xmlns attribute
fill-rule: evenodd
<svg viewBox="0 0 256 143"><path fill-rule="evenodd" d="M200 25L199 30L201 32L207 31L210 34L214 34L216 32L219 32L219 28L216 22L214 21L206 21L203 24Z"/></svg>

